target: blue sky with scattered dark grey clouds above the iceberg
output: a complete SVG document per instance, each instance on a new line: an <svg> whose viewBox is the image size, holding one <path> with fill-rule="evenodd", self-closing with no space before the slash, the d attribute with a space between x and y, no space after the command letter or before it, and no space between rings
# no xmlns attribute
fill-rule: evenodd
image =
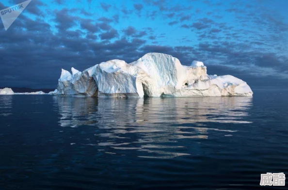
<svg viewBox="0 0 288 190"><path fill-rule="evenodd" d="M0 22L0 87L56 88L62 68L158 52L252 89L287 88L287 10L287 0L32 0L9 29Z"/></svg>

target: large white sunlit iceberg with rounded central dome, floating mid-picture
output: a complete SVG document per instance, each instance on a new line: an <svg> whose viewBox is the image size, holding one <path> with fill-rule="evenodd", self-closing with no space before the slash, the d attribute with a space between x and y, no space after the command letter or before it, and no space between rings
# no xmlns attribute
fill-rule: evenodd
<svg viewBox="0 0 288 190"><path fill-rule="evenodd" d="M83 72L72 67L71 73L62 69L57 89L49 94L115 98L253 95L239 78L208 75L201 61L185 66L161 53L147 53L131 63L109 60Z"/></svg>

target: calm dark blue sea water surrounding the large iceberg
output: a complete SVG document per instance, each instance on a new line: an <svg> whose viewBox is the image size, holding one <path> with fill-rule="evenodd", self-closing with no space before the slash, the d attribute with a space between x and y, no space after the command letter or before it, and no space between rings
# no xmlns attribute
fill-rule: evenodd
<svg viewBox="0 0 288 190"><path fill-rule="evenodd" d="M0 190L272 189L260 174L288 174L287 98L0 96Z"/></svg>

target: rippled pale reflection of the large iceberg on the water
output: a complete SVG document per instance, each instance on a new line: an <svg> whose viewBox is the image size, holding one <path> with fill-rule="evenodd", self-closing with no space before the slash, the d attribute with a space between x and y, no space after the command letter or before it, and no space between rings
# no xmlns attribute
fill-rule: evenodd
<svg viewBox="0 0 288 190"><path fill-rule="evenodd" d="M189 155L181 139L208 139L213 131L232 136L237 130L227 129L225 124L250 123L246 117L252 106L252 97L94 99L55 96L53 101L59 109L62 127L94 127L95 139L89 139L90 143L81 142L83 145L97 146L99 151L109 147L106 151L109 154L125 155L134 150L138 157L144 158ZM222 123L224 127L211 123Z"/></svg>

